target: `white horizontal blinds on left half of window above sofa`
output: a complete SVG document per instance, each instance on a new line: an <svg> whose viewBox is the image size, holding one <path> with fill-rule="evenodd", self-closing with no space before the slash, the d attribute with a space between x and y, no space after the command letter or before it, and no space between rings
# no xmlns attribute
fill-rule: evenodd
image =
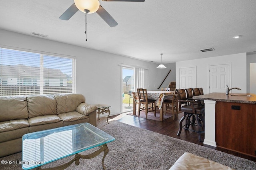
<svg viewBox="0 0 256 170"><path fill-rule="evenodd" d="M0 95L39 94L40 54L0 48Z"/></svg>

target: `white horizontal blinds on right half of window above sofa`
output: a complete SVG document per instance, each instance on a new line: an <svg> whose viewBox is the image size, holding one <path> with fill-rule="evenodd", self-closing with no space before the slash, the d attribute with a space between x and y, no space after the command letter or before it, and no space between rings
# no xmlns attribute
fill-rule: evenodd
<svg viewBox="0 0 256 170"><path fill-rule="evenodd" d="M72 93L72 59L44 55L44 94Z"/></svg>

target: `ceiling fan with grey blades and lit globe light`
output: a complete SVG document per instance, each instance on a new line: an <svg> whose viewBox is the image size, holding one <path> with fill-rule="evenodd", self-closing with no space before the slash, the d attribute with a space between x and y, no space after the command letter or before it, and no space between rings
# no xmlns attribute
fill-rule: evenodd
<svg viewBox="0 0 256 170"><path fill-rule="evenodd" d="M145 0L102 0L102 1L123 1L123 2L144 2ZM59 18L60 20L69 20L78 10L92 14L96 12L99 16L108 23L110 27L118 25L116 20L108 14L108 12L100 5L99 0L74 0L72 4Z"/></svg>

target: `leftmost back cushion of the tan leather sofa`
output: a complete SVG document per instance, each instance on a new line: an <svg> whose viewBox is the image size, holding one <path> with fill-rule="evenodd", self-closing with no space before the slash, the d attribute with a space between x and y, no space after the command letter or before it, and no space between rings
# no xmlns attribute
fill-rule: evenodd
<svg viewBox="0 0 256 170"><path fill-rule="evenodd" d="M26 96L0 96L0 121L28 119Z"/></svg>

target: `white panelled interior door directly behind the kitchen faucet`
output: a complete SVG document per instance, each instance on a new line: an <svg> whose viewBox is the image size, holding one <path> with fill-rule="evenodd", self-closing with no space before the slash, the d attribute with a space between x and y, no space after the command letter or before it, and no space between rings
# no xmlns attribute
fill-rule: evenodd
<svg viewBox="0 0 256 170"><path fill-rule="evenodd" d="M209 93L225 93L226 84L230 87L229 64L209 66Z"/></svg>

